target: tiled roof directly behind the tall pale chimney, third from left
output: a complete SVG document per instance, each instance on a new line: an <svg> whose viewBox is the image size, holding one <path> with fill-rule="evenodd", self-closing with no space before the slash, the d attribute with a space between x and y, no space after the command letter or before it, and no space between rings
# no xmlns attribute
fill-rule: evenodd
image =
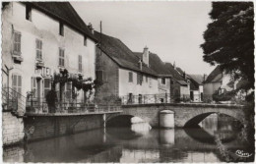
<svg viewBox="0 0 256 164"><path fill-rule="evenodd" d="M136 56L142 59L142 52L134 52ZM150 68L158 73L159 77L172 77L168 69L166 69L165 64L160 60L160 57L150 52L149 53L149 64Z"/></svg>

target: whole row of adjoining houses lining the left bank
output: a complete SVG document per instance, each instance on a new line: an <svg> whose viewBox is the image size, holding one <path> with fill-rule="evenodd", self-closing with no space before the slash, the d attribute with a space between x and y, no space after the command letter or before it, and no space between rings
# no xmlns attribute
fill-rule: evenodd
<svg viewBox="0 0 256 164"><path fill-rule="evenodd" d="M203 76L162 62L147 46L132 51L85 24L68 2L5 2L2 8L3 102L18 96L26 106L43 105L50 90L64 107L74 99L79 106L94 99L203 100Z"/></svg>

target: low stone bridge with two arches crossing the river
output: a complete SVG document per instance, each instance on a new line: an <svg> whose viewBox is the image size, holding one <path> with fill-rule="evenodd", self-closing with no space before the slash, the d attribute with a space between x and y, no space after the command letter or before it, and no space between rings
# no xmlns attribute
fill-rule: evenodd
<svg viewBox="0 0 256 164"><path fill-rule="evenodd" d="M218 113L224 114L243 122L243 106L225 104L200 104L200 103L168 103L168 104L138 104L123 105L122 113L106 115L106 122L113 118L139 117L152 127L160 127L160 111L170 110L174 112L174 125L176 128L194 127L207 116Z"/></svg>

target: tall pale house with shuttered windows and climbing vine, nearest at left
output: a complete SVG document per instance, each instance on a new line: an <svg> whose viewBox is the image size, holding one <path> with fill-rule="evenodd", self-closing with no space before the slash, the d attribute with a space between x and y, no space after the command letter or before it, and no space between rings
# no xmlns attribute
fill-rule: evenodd
<svg viewBox="0 0 256 164"><path fill-rule="evenodd" d="M94 81L95 60L96 38L69 2L3 3L3 95L18 95L18 110L32 106L47 112L45 97L53 81L63 109L74 97L83 103L83 89L55 77Z"/></svg>

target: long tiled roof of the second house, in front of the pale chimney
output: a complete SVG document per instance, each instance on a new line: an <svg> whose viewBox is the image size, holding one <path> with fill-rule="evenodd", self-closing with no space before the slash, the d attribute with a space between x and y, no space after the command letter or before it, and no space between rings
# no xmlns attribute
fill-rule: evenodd
<svg viewBox="0 0 256 164"><path fill-rule="evenodd" d="M120 67L157 77L158 74L146 65L143 65L142 70L140 70L138 63L140 58L118 38L103 33L100 37L98 31L95 31L95 36L100 42L100 49Z"/></svg>

